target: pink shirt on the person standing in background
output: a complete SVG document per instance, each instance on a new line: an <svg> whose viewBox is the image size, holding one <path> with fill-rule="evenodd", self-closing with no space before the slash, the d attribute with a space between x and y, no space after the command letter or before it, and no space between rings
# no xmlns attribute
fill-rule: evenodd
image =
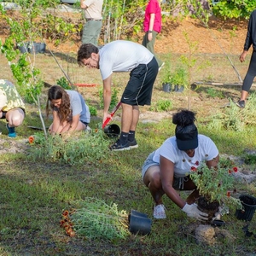
<svg viewBox="0 0 256 256"><path fill-rule="evenodd" d="M154 14L154 26L153 30L155 32L160 32L161 25L162 25L162 17L161 17L161 9L158 0L149 0L148 5L145 10L145 18L143 22L143 29L144 32L149 30L149 21L150 21L150 14Z"/></svg>

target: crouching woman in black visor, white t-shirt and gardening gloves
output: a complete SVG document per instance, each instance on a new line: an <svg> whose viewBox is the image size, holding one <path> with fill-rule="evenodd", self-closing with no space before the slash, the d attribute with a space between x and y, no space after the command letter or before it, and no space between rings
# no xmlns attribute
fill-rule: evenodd
<svg viewBox="0 0 256 256"><path fill-rule="evenodd" d="M207 166L218 165L218 148L209 137L198 134L195 113L181 110L172 117L177 125L175 136L148 155L142 168L143 183L154 199L154 218L166 218L162 195L166 194L191 218L207 220L207 213L197 209L195 201L199 191L190 179L189 172L206 161ZM177 190L193 190L184 201Z"/></svg>

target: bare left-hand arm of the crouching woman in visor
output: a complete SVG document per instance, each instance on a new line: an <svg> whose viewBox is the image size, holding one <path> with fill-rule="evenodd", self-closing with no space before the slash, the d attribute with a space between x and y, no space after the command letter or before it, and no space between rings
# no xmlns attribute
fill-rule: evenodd
<svg viewBox="0 0 256 256"><path fill-rule="evenodd" d="M174 179L174 163L167 160L160 155L160 178L162 188L166 195L181 209L185 206L186 202L177 194L177 191L173 189L172 183Z"/></svg>

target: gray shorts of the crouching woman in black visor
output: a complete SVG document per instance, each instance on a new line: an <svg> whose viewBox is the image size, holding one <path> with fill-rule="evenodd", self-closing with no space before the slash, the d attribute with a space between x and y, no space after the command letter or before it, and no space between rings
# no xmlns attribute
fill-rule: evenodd
<svg viewBox="0 0 256 256"><path fill-rule="evenodd" d="M159 163L154 162L153 160L154 152L148 155L148 158L145 160L142 168L142 176L144 179L145 173L148 171L148 168L151 166L160 166ZM176 190L183 190L184 183L189 181L189 176L185 177L174 177L172 187Z"/></svg>

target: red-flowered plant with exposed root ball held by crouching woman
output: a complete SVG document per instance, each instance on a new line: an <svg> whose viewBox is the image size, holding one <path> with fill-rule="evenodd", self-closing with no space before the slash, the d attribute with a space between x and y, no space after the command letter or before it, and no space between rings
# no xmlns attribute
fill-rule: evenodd
<svg viewBox="0 0 256 256"><path fill-rule="evenodd" d="M190 177L194 181L199 194L197 205L202 212L207 212L209 220L218 212L218 207L224 205L230 209L241 209L241 201L231 196L236 193L234 172L237 167L229 167L227 161L220 161L211 169L205 163L191 167Z"/></svg>

